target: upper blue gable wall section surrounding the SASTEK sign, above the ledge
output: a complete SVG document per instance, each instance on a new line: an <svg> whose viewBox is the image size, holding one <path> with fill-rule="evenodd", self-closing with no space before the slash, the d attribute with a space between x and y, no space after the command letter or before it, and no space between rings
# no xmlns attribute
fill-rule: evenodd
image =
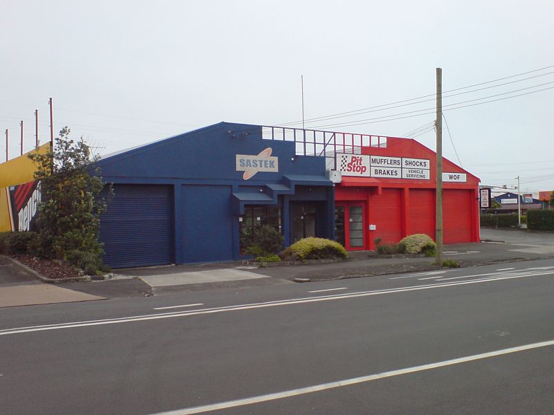
<svg viewBox="0 0 554 415"><path fill-rule="evenodd" d="M233 131L233 132L229 132ZM256 155L271 147L279 172L259 172L248 181L235 170L235 154ZM294 160L292 160L294 158ZM221 122L100 160L102 176L196 178L203 181L279 182L283 172L325 175L323 157L295 156L294 142L262 140L262 127Z"/></svg>

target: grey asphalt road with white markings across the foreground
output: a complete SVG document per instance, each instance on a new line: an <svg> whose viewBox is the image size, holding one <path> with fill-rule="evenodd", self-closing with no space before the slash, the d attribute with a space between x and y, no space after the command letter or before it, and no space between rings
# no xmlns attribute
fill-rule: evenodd
<svg viewBox="0 0 554 415"><path fill-rule="evenodd" d="M548 259L6 308L0 413L552 414L553 297Z"/></svg>

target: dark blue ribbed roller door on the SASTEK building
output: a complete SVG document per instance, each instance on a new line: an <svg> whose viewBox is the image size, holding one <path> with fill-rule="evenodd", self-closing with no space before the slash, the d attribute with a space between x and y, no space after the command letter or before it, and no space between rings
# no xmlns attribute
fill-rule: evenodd
<svg viewBox="0 0 554 415"><path fill-rule="evenodd" d="M105 264L112 268L172 264L172 200L172 186L114 185L100 218Z"/></svg>

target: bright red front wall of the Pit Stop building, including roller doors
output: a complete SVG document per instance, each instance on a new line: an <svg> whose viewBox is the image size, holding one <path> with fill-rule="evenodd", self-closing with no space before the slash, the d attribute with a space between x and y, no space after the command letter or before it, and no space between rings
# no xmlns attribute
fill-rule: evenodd
<svg viewBox="0 0 554 415"><path fill-rule="evenodd" d="M431 160L430 180L342 177L335 187L335 203L364 205L364 249L374 250L376 238L397 243L408 234L425 233L435 239L435 152L415 140L387 138L387 147L362 147L361 153ZM444 243L479 242L479 178L447 159L443 159L443 172L467 177L465 183L443 183ZM375 225L375 230L369 230L369 225Z"/></svg>

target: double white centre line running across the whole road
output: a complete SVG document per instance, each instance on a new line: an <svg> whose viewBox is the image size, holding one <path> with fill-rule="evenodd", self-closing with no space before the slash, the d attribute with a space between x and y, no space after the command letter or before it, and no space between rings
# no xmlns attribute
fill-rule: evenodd
<svg viewBox="0 0 554 415"><path fill-rule="evenodd" d="M161 318L172 318L172 317L188 317L190 315L203 315L203 314L213 314L213 313L226 313L228 311L240 311L240 310L249 310L253 308L265 308L265 307L275 307L275 306L289 306L292 304L307 304L312 302L321 302L321 301L331 301L335 299L350 299L356 297L368 297L370 295L384 295L384 294L394 294L394 293L405 293L409 291L420 291L420 290L429 290L433 288L443 288L443 287L452 287L452 286L461 286L466 284L479 284L481 282L492 282L492 281L501 281L503 279L515 279L515 278L524 278L524 277L537 277L539 275L554 275L554 270L545 270L543 273L531 273L531 274L521 274L521 275L492 275L490 277L485 277L482 279L471 279L470 281L461 281L461 282L445 282L445 283L436 283L436 284L427 284L419 286L406 286L400 288L388 288L384 290L376 291L360 291L357 293L347 293L347 294L333 294L333 295L319 295L317 297L305 297L305 298L294 298L294 299L284 299L270 302L262 303L252 303L252 304L240 304L235 306L222 306L214 308L200 308L198 310L191 311L172 311L170 313L158 313L150 315L135 315L129 317L120 317L114 319L105 319L105 320L89 320L82 322L69 322L69 323L60 323L60 324L46 324L42 326L27 326L27 327L18 327L14 329L3 329L0 330L0 335L10 335L17 333L30 333L33 331L47 331L47 330L59 330L59 329L74 329L76 327L84 326L100 326L105 324L118 324L118 323L127 323L127 322L139 322L146 320L158 320ZM477 275L474 275L474 277ZM469 275L467 277L470 277Z"/></svg>

